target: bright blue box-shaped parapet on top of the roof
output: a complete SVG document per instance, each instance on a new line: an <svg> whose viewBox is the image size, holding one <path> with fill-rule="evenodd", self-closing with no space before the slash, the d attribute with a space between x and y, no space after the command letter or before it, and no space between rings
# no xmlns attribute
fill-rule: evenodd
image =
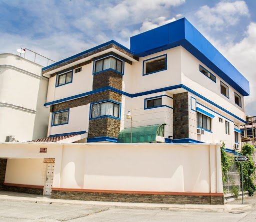
<svg viewBox="0 0 256 222"><path fill-rule="evenodd" d="M130 50L143 57L181 45L243 96L248 80L185 18L130 37Z"/></svg>

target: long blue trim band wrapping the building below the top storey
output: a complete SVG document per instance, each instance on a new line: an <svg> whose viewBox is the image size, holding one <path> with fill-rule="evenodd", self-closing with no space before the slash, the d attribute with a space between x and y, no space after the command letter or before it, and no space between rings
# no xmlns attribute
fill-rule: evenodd
<svg viewBox="0 0 256 222"><path fill-rule="evenodd" d="M52 102L48 102L48 103L44 103L44 106L48 106L48 105L52 105L52 104L56 104L56 103L60 103L60 102L64 102L64 101L67 101L67 100L71 100L71 99L76 99L76 98L79 98L79 97L83 97L83 96L86 96L86 95L91 95L91 94L94 94L94 93L98 93L98 92L103 92L103 91L106 91L106 90L112 90L114 92L117 92L117 93L120 93L122 95L125 95L125 96L128 96L130 98L134 98L134 97L137 97L137 96L143 96L143 95L148 95L148 94L153 94L153 93L156 93L156 92L163 92L163 91L168 91L168 90L172 90L172 89L178 89L178 88L183 88L185 90L187 90L188 92L191 92L192 94L194 94L195 96L198 96L199 98L203 99L204 101L210 103L211 105L217 107L218 109L224 111L225 113L233 116L234 118L236 118L237 120L243 122L243 123L247 123L246 121L244 121L243 119L239 118L238 116L234 115L233 113L227 111L226 109L222 108L221 106L217 105L216 103L210 101L209 99L205 98L204 96L200 95L199 93L193 91L192 89L184 86L183 84L179 84L179 85L174 85L174 86L168 86L168 87L164 87L164 88L159 88L159 89L154 89L154 90L149 90L149 91L145 91L145 92L139 92L139 93L134 93L134 94L130 94L130 93L127 93L127 92L123 92L119 89L116 89L116 88L113 88L111 86L105 86L105 87L102 87L102 88L99 88L99 89L94 89L92 91L89 91L89 92L85 92L85 93L81 93L81 94L78 94L78 95L75 95L75 96L69 96L69 97L66 97L66 98L63 98L63 99L58 99L58 100L55 100L55 101L52 101ZM198 102L196 102L197 104L199 104ZM201 104L200 104L201 105ZM202 105L203 106L203 105ZM205 106L204 106L205 107ZM206 107L207 108L207 107ZM211 109L209 109L211 110ZM218 114L217 112L211 110L212 112ZM220 114L218 114L220 115ZM222 116L222 115L220 115ZM224 117L224 116L222 116ZM225 119L227 119L226 117L224 117ZM230 120L231 121L231 120ZM233 122L233 121L231 121Z"/></svg>

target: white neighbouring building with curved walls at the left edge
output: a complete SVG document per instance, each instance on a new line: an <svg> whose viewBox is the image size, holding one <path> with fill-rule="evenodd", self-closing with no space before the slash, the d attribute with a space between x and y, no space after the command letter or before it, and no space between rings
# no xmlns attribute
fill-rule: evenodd
<svg viewBox="0 0 256 222"><path fill-rule="evenodd" d="M0 65L0 141L10 135L18 141L45 137L48 79L41 76L42 66L8 53L0 54Z"/></svg>

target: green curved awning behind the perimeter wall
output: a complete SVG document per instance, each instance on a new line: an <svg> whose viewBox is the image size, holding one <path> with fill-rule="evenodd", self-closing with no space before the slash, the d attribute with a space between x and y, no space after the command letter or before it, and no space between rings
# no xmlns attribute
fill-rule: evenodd
<svg viewBox="0 0 256 222"><path fill-rule="evenodd" d="M156 136L164 136L164 124L132 127L132 143L155 142ZM123 129L117 138L117 143L130 143L131 129Z"/></svg>

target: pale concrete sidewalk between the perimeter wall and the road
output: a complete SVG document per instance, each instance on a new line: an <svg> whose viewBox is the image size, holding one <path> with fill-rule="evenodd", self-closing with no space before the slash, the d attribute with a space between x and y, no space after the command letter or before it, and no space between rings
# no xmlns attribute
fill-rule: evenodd
<svg viewBox="0 0 256 222"><path fill-rule="evenodd" d="M128 208L128 209L165 209L168 211L203 211L203 212L239 212L251 209L256 204L256 197L248 197L244 199L242 205L241 200L229 202L224 205L177 205L177 204L144 204L144 203L122 203L122 202L99 202L99 201L75 201L51 199L49 196L39 196L32 194L14 193L0 191L0 200L2 201L18 201L18 202L37 202L52 203L79 206L95 206L108 208Z"/></svg>

